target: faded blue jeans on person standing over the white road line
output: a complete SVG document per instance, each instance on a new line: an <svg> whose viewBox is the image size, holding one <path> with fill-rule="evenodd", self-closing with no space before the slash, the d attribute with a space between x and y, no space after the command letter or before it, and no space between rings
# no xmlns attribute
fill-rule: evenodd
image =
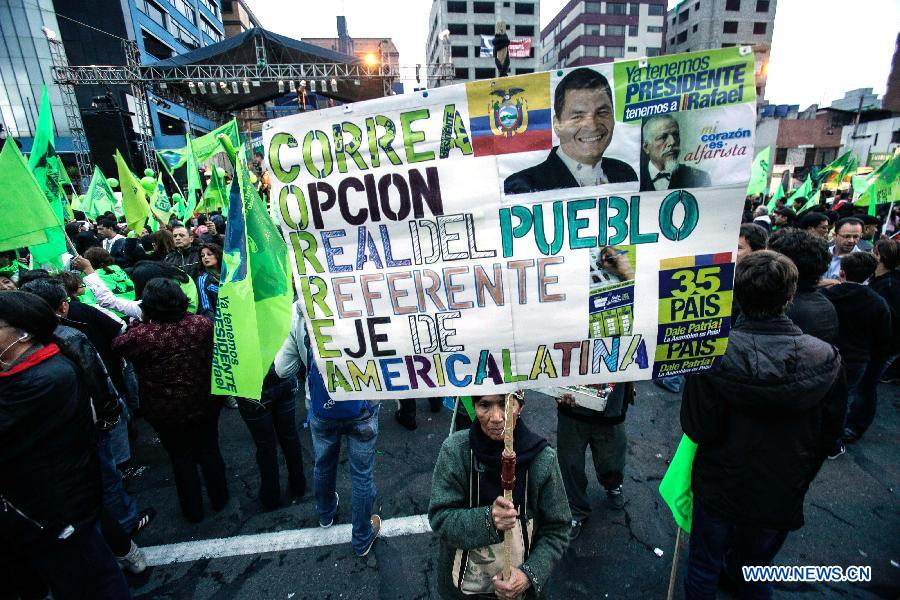
<svg viewBox="0 0 900 600"><path fill-rule="evenodd" d="M320 419L315 415L309 419L316 454L313 480L320 523L330 523L337 512L334 497L337 464L341 454L341 437L347 436L353 485L353 539L350 543L357 554L365 552L375 535L371 518L375 505L375 442L378 440L380 412L381 406L376 404L372 414L360 419L338 421Z"/></svg>

